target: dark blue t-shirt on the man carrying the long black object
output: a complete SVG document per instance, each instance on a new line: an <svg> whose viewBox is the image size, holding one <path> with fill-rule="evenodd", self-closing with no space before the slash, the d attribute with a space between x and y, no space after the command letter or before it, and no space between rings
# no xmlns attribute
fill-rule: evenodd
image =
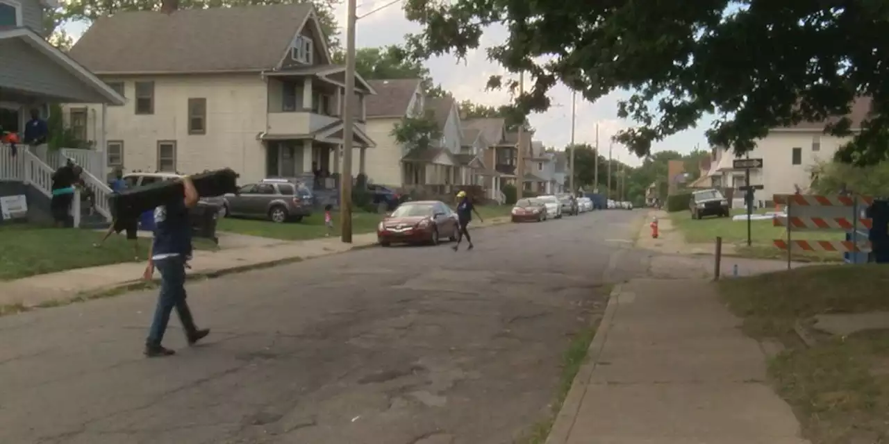
<svg viewBox="0 0 889 444"><path fill-rule="evenodd" d="M152 258L191 257L191 224L183 198L155 209L155 239Z"/></svg>

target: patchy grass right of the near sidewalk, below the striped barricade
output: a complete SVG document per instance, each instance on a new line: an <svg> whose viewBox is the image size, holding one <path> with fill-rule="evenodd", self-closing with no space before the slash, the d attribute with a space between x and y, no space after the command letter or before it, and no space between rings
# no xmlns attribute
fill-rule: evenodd
<svg viewBox="0 0 889 444"><path fill-rule="evenodd" d="M889 267L882 265L811 266L719 282L750 336L784 345L769 374L813 443L889 438L889 330L816 334L810 348L794 324L807 325L819 313L889 311L887 285Z"/></svg>

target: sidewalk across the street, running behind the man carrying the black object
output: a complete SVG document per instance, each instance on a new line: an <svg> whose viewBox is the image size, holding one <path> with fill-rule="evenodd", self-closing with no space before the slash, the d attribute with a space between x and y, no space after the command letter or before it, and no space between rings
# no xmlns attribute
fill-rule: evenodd
<svg viewBox="0 0 889 444"><path fill-rule="evenodd" d="M324 238L302 242L283 242L270 246L231 250L196 250L188 274L212 274L220 271L275 263L293 258L316 258L369 246L377 242L375 233L356 234L352 244L339 238ZM92 293L124 286L139 281L145 262L127 262L110 266L78 268L59 273L38 274L25 279L0 282L0 305L21 304L27 307L53 300L76 297L78 293Z"/></svg>

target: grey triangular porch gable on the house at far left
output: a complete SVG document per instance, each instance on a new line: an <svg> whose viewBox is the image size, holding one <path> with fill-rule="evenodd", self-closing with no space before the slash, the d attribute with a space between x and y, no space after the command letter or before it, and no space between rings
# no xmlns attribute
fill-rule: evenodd
<svg viewBox="0 0 889 444"><path fill-rule="evenodd" d="M0 52L15 60L12 65L0 64L0 71L12 70L5 75L12 80L0 84L0 89L11 91L10 95L14 92L17 96L68 103L124 104L120 94L29 28L0 31Z"/></svg>

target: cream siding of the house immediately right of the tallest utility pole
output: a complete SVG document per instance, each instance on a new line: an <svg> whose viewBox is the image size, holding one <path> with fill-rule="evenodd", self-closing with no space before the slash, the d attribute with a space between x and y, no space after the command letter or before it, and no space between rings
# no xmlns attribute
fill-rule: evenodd
<svg viewBox="0 0 889 444"><path fill-rule="evenodd" d="M392 136L392 129L401 119L372 119L367 121L367 136L377 143L368 148L364 159L365 174L373 183L387 186L401 186L401 158L404 147ZM359 150L354 149L353 170L357 170Z"/></svg>

